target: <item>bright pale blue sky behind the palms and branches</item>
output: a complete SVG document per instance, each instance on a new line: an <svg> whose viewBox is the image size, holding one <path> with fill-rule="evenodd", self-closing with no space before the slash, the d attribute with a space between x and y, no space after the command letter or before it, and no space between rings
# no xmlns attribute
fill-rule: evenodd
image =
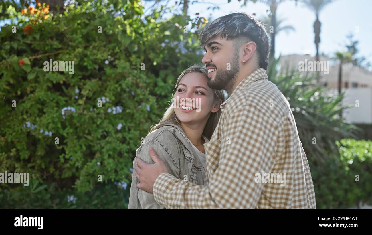
<svg viewBox="0 0 372 235"><path fill-rule="evenodd" d="M201 0L199 0L201 1ZM208 0L207 0L208 1ZM216 19L234 12L256 13L256 17L266 15L269 7L266 4L249 2L247 6L240 7L237 0L227 3L227 0L209 1L220 6L219 10L207 10L212 4L195 3L189 6L189 15ZM242 1L243 2L243 1ZM175 1L170 1L169 6ZM372 12L371 0L334 0L324 7L320 13L321 43L320 53L333 56L335 51L344 51L344 44L347 42L346 35L354 34L354 39L359 40L359 56L365 56L372 63ZM153 3L145 3L145 9ZM279 4L277 9L279 18L287 19L284 25L292 25L295 32L288 35L280 32L276 36L276 55L288 54L311 54L315 55L314 28L315 14L304 6L303 3L288 0ZM359 33L356 32L359 26Z"/></svg>

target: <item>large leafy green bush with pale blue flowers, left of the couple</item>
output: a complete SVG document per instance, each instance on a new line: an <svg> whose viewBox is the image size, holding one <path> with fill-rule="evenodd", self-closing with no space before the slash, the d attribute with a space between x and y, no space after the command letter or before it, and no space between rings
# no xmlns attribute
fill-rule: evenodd
<svg viewBox="0 0 372 235"><path fill-rule="evenodd" d="M135 150L202 55L183 16L142 9L136 0L82 1L49 18L3 9L0 172L29 172L32 183L1 184L1 207L126 208ZM45 72L50 59L74 61L74 74Z"/></svg>

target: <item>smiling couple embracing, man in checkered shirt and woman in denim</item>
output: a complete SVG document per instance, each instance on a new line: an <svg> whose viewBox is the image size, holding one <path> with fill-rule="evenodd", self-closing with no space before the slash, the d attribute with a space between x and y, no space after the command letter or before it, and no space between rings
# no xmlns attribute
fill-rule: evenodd
<svg viewBox="0 0 372 235"><path fill-rule="evenodd" d="M136 151L129 209L315 209L291 107L266 74L264 26L232 13L199 40L205 65L179 75L173 103Z"/></svg>

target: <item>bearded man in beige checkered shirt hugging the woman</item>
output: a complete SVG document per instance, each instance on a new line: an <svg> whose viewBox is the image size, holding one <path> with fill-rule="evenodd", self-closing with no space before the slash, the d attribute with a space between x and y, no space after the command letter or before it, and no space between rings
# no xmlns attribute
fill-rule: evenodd
<svg viewBox="0 0 372 235"><path fill-rule="evenodd" d="M264 26L250 15L233 13L206 26L199 40L206 51L208 86L229 94L204 145L208 186L171 176L150 148L154 164L137 159L137 187L168 209L315 209L291 108L267 80L270 39Z"/></svg>

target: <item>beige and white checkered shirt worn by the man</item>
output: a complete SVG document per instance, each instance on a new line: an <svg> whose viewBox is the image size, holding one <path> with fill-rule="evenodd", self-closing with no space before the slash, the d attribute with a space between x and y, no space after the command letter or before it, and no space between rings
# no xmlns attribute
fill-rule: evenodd
<svg viewBox="0 0 372 235"><path fill-rule="evenodd" d="M309 164L288 101L263 68L221 104L206 151L208 186L162 173L153 191L168 209L315 209Z"/></svg>

